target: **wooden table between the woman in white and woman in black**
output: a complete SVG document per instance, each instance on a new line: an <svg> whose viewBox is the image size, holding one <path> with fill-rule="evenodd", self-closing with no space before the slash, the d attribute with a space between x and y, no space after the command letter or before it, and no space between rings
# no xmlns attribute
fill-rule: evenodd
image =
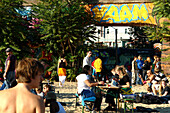
<svg viewBox="0 0 170 113"><path fill-rule="evenodd" d="M107 92L107 90L109 89L112 89L112 90L115 90L116 91L116 95L115 94L110 94L108 93L109 95L112 95L112 96L115 96L116 97L116 112L118 110L118 96L119 96L119 87L117 86L96 86L97 88L101 89L102 91L104 91L105 93Z"/></svg>

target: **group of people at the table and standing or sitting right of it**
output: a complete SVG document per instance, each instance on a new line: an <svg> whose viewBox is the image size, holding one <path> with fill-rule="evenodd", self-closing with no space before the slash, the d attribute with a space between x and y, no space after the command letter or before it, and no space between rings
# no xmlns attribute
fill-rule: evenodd
<svg viewBox="0 0 170 113"><path fill-rule="evenodd" d="M120 88L132 88L133 85L146 84L146 89L148 91L147 94L161 97L166 101L164 103L167 103L168 100L170 100L170 88L168 87L169 81L161 70L160 57L154 56L154 62L152 63L150 57L147 57L146 60L143 61L142 56L135 56L132 61L132 70L130 74L124 66L116 66L111 70L111 74L103 75L101 57L97 56L94 61L91 61L91 56L92 51L88 51L87 56L83 60L83 70L88 67L88 73L84 73L83 75L80 74L77 77L78 94L81 94L81 91L84 89L93 91L93 88L90 87L103 84L102 81L104 81L110 82L111 85ZM92 70L90 70L90 67ZM107 111L115 110L114 96L109 95L110 92L114 93L114 91L109 89L107 92L106 103L108 103L108 107L104 109ZM94 91L94 93L96 92ZM98 91L96 95L99 93L101 92ZM98 111L100 110L102 96L96 97L97 105L95 105L95 103L93 109Z"/></svg>

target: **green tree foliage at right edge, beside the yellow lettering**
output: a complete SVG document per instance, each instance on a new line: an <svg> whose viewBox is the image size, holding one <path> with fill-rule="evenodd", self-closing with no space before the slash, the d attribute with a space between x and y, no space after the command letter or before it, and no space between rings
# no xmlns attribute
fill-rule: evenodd
<svg viewBox="0 0 170 113"><path fill-rule="evenodd" d="M148 37L152 40L170 41L170 3L169 0L152 0L154 8L152 15L156 17L157 26L146 29ZM167 20L162 21L161 19Z"/></svg>

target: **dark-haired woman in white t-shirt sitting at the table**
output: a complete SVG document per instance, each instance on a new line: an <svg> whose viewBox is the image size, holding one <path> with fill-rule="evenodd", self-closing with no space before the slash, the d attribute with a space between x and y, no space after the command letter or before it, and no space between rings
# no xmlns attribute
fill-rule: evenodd
<svg viewBox="0 0 170 113"><path fill-rule="evenodd" d="M76 79L77 79L77 93L79 94L79 99L81 101L81 93L83 92L83 90L90 90L90 87L92 86L97 86L99 84L104 84L103 81L100 82L92 82L89 80L88 75L91 75L91 67L89 65L85 65L83 67L83 71L81 74L79 74ZM96 98L97 101L97 98ZM95 107L95 106L94 106ZM99 110L100 108L96 108L97 110Z"/></svg>

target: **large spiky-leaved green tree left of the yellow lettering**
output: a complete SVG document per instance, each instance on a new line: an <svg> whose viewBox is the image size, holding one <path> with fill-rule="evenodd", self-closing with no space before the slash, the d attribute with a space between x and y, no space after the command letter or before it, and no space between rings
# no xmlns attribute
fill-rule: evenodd
<svg viewBox="0 0 170 113"><path fill-rule="evenodd" d="M67 55L69 68L74 70L69 71L72 74L80 67L88 49L84 42L93 43L90 38L95 39L94 20L84 6L82 0L41 0L33 6L33 17L42 19L38 25L45 44L42 48L57 58Z"/></svg>

